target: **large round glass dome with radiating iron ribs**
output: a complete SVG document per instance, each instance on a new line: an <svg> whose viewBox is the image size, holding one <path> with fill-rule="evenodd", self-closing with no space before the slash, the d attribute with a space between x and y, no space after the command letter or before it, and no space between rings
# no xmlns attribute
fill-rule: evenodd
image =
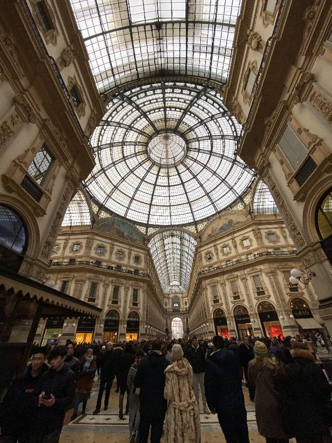
<svg viewBox="0 0 332 443"><path fill-rule="evenodd" d="M240 127L207 87L141 86L112 98L91 142L85 186L106 208L159 226L190 224L230 206L253 172L236 155Z"/></svg>

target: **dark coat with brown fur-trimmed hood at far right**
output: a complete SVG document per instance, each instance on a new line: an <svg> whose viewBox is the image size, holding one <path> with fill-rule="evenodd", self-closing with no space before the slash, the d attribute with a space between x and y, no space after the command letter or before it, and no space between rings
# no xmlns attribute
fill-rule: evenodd
<svg viewBox="0 0 332 443"><path fill-rule="evenodd" d="M297 438L321 438L329 435L330 392L328 381L309 351L292 349L295 361L276 374L284 429Z"/></svg>

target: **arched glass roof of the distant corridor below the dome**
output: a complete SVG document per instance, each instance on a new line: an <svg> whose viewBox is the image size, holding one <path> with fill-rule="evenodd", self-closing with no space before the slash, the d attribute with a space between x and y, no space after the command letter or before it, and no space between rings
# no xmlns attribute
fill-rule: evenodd
<svg viewBox="0 0 332 443"><path fill-rule="evenodd" d="M188 289L197 241L180 230L163 231L149 243L163 292Z"/></svg>

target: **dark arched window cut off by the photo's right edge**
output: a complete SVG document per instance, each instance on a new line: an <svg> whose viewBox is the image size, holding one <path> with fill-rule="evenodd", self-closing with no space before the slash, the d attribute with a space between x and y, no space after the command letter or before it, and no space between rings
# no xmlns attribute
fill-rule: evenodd
<svg viewBox="0 0 332 443"><path fill-rule="evenodd" d="M322 249L332 264L332 188L328 189L318 202L315 224Z"/></svg>

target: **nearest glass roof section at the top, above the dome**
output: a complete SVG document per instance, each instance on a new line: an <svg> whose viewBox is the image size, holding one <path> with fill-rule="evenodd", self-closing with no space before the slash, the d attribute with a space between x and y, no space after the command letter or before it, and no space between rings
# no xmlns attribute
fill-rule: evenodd
<svg viewBox="0 0 332 443"><path fill-rule="evenodd" d="M70 0L101 94L192 75L225 84L240 0Z"/></svg>

